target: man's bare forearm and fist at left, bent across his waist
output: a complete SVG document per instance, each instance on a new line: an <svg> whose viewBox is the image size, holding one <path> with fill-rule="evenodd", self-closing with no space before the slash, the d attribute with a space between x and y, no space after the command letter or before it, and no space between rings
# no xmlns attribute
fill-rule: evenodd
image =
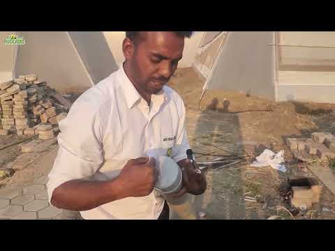
<svg viewBox="0 0 335 251"><path fill-rule="evenodd" d="M109 181L67 181L52 193L51 204L70 211L87 211L111 201L150 194L156 183L154 158L129 160Z"/></svg>

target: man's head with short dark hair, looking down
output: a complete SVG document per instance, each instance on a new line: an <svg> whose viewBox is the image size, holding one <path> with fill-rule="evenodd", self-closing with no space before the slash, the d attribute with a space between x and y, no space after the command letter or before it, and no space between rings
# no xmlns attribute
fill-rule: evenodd
<svg viewBox="0 0 335 251"><path fill-rule="evenodd" d="M156 94L177 69L183 56L184 38L190 31L127 31L123 43L124 56L137 90ZM129 76L130 75L130 76Z"/></svg>

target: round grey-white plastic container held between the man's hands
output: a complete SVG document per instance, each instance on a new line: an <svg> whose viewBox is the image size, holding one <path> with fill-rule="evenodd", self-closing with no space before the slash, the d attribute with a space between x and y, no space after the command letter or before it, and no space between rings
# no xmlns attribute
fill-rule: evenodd
<svg viewBox="0 0 335 251"><path fill-rule="evenodd" d="M179 165L167 156L156 158L158 178L155 189L163 195L179 192L182 185L183 174Z"/></svg>

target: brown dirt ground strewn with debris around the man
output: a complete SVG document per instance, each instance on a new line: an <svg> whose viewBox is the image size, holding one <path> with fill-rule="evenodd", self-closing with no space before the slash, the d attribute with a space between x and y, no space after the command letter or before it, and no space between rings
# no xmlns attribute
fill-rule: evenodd
<svg viewBox="0 0 335 251"><path fill-rule="evenodd" d="M183 98L186 111L188 139L195 153L244 155L243 165L235 165L217 172L207 172L208 189L203 196L195 197L198 211L207 213L207 219L267 219L271 215L292 218L283 206L289 205L281 196L287 178L315 177L303 163L292 157L284 144L285 137L310 136L311 132L335 133L335 105L302 102L272 102L246 93L234 91L207 91L200 102L202 81L191 68L177 70L170 86ZM70 93L68 100L78 95ZM0 149L27 136L0 136ZM271 167L249 167L261 149L285 151L288 172L277 172ZM10 163L21 154L20 146L0 150L0 166ZM0 190L9 190L31 183L35 178L50 172L57 154L57 144L39 153L27 168L15 172L0 181ZM199 156L199 155L196 155ZM214 156L202 156L198 162L212 160ZM322 184L322 183L321 183ZM257 202L244 198L256 197ZM334 219L334 195L322 185L319 204L300 212L296 219ZM323 212L326 207L329 212Z"/></svg>

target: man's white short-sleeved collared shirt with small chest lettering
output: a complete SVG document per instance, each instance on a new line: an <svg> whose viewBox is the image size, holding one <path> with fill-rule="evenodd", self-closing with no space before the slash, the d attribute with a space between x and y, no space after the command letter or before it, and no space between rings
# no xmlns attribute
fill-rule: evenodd
<svg viewBox="0 0 335 251"><path fill-rule="evenodd" d="M150 107L121 66L78 98L59 122L59 152L49 174L49 201L55 188L73 179L105 181L130 159L167 155L175 162L189 148L185 107L168 86L151 96ZM85 219L157 219L164 199L156 190L80 212Z"/></svg>

